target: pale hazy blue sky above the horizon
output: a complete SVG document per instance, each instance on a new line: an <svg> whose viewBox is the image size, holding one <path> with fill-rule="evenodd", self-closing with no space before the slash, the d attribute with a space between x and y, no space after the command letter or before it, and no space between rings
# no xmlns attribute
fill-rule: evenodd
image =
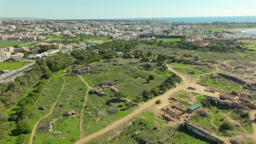
<svg viewBox="0 0 256 144"><path fill-rule="evenodd" d="M256 16L256 0L0 0L0 17L113 19Z"/></svg>

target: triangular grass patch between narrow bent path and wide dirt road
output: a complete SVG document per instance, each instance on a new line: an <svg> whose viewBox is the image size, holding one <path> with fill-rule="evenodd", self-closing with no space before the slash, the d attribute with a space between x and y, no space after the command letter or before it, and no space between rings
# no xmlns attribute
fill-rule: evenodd
<svg viewBox="0 0 256 144"><path fill-rule="evenodd" d="M137 106L134 106L130 107L130 109L127 109L123 101L112 97L112 95L114 94L112 91L107 90L105 92L107 93L107 95L103 97L96 94L88 95L88 109L84 110L83 117L84 136L88 136L98 130L103 129L104 127L107 127L109 124L117 121L117 119L119 118L128 115L130 112L137 108ZM108 110L111 108L118 110L118 112L115 114L108 113ZM98 114L96 112L97 110ZM89 112L92 113L92 116L88 114Z"/></svg>

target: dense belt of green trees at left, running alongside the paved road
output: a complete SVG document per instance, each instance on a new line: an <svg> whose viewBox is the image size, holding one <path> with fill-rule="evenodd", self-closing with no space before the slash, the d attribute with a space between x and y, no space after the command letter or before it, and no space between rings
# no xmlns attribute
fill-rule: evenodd
<svg viewBox="0 0 256 144"><path fill-rule="evenodd" d="M71 64L72 60L67 54L56 53L52 57L38 59L30 73L16 77L15 81L0 83L0 140L7 139L11 133L11 125L8 121L15 122L20 134L31 132L27 118L33 117L30 107L38 99L45 79L49 79L53 71L66 68ZM21 93L33 85L35 90L21 99ZM16 113L8 117L7 109L11 109L17 103ZM23 138L24 136L20 136L18 143L21 143Z"/></svg>

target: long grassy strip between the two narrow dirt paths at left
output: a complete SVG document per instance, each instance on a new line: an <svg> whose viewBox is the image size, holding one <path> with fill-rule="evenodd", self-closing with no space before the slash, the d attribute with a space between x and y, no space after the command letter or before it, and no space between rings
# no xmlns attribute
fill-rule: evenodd
<svg viewBox="0 0 256 144"><path fill-rule="evenodd" d="M63 114L71 109L77 110L79 113L81 112L87 87L78 76L65 75L63 77L65 77L66 80L64 91L62 92L60 100L56 104L53 113L50 116L44 118L42 122L39 123L34 143L74 143L79 139L80 115L73 117L63 117ZM54 96L57 97L57 95L58 94L55 94ZM53 100L55 99L56 98L53 98ZM51 99L45 99L44 101L48 101L49 103L50 100ZM46 105L46 109L50 109L50 106ZM48 131L48 123L55 118L57 121L53 126L53 131L60 131L61 134L51 133ZM65 138L63 139L63 137Z"/></svg>

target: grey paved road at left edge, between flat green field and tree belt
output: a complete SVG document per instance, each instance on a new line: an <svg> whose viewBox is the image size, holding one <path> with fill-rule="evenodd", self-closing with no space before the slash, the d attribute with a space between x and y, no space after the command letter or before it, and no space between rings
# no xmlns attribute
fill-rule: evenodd
<svg viewBox="0 0 256 144"><path fill-rule="evenodd" d="M20 69L13 70L8 74L4 74L4 76L0 77L0 82L9 82L9 81L15 80L15 78L18 76L27 74L30 71L30 69L28 69L28 68L30 68L35 63L36 62L33 62L31 64L25 65L24 67L22 67Z"/></svg>

